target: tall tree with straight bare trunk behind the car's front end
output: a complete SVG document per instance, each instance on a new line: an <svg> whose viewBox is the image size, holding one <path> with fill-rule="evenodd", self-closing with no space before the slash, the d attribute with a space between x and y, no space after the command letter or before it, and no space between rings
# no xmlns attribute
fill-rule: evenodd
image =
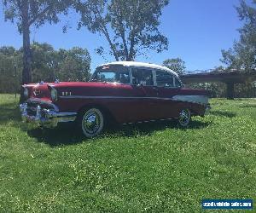
<svg viewBox="0 0 256 213"><path fill-rule="evenodd" d="M42 26L46 21L56 23L57 14L67 13L69 0L2 0L5 20L16 22L23 36L22 83L32 82L32 52L30 45L30 27Z"/></svg>

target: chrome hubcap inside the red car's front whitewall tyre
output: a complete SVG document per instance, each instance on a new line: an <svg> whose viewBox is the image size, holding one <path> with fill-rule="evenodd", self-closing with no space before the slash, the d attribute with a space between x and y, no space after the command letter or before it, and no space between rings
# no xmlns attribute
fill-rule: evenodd
<svg viewBox="0 0 256 213"><path fill-rule="evenodd" d="M89 112L84 118L84 129L93 134L100 128L100 116L96 112Z"/></svg>

